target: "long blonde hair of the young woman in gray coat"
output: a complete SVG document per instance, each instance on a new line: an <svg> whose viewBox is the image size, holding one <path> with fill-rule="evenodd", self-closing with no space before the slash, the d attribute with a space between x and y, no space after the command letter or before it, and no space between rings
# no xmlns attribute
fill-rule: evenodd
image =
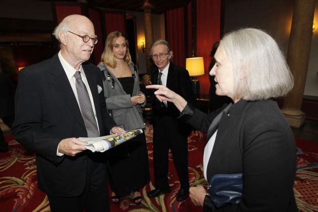
<svg viewBox="0 0 318 212"><path fill-rule="evenodd" d="M107 35L106 38L106 42L105 42L105 48L104 51L101 54L101 60L99 64L106 64L107 66L110 66L112 68L116 68L117 66L117 62L114 58L114 53L113 53L113 42L115 39L119 38L120 36L124 37L126 40L126 45L127 45L127 49L126 49L126 54L124 57L124 61L127 65L129 65L131 63L131 56L129 53L129 44L128 44L128 40L126 39L125 35L119 31L114 31L111 32Z"/></svg>

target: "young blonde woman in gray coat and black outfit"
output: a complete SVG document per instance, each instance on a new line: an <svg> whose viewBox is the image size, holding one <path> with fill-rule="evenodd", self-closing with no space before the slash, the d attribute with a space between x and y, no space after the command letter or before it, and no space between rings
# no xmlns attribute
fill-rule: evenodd
<svg viewBox="0 0 318 212"><path fill-rule="evenodd" d="M138 69L131 62L128 40L118 31L111 32L98 65L105 76L104 97L113 119L125 130L145 129L141 107L145 95L139 88ZM148 150L145 133L109 151L112 201L133 192L133 200L141 203L139 187L149 182Z"/></svg>

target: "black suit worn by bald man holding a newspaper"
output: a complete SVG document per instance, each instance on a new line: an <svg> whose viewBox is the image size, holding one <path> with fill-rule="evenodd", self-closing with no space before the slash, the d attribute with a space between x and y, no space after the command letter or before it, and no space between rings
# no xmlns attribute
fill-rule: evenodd
<svg viewBox="0 0 318 212"><path fill-rule="evenodd" d="M92 92L100 135L116 123L107 113L100 70L82 64ZM47 194L76 196L82 193L87 159L104 162L104 155L86 150L75 157L57 156L64 138L87 137L84 120L58 54L49 60L24 68L19 73L16 92L15 139L36 152L38 187ZM97 158L99 157L100 158Z"/></svg>

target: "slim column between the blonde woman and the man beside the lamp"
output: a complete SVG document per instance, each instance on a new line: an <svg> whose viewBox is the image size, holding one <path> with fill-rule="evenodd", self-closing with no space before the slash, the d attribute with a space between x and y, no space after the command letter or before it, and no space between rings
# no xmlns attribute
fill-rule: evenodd
<svg viewBox="0 0 318 212"><path fill-rule="evenodd" d="M147 74L151 75L151 62L150 62L150 46L153 43L153 29L151 9L153 6L146 0L142 8L144 11L144 24L145 24L145 54L146 54L146 67Z"/></svg>

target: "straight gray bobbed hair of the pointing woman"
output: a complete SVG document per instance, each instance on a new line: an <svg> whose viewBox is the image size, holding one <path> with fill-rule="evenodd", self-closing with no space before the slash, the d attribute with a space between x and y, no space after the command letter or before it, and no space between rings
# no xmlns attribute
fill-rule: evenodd
<svg viewBox="0 0 318 212"><path fill-rule="evenodd" d="M283 97L293 75L276 41L260 29L229 32L220 41L234 69L234 96L245 100Z"/></svg>

